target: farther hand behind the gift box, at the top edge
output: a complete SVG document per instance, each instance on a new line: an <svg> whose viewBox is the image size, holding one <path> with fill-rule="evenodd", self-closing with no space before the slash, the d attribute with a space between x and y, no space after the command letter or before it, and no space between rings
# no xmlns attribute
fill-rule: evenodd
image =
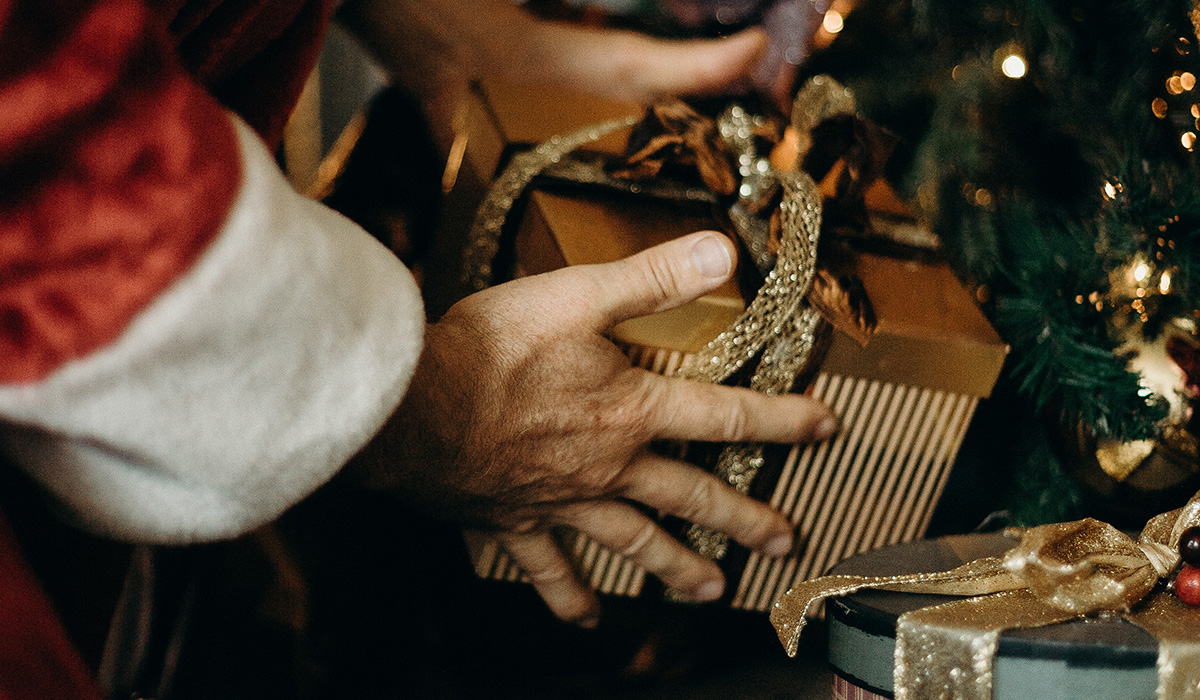
<svg viewBox="0 0 1200 700"><path fill-rule="evenodd" d="M467 86L480 78L641 103L782 86L772 82L775 76L761 74L767 34L760 29L665 41L540 20L511 0L348 0L340 18L396 82L422 100L434 131L449 128Z"/></svg>

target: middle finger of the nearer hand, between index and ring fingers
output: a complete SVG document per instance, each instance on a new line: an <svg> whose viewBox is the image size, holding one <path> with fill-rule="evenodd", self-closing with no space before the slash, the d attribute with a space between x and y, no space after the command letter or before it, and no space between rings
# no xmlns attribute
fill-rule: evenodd
<svg viewBox="0 0 1200 700"><path fill-rule="evenodd" d="M625 469L620 495L724 532L768 556L792 551L792 525L786 517L684 462L640 455Z"/></svg>

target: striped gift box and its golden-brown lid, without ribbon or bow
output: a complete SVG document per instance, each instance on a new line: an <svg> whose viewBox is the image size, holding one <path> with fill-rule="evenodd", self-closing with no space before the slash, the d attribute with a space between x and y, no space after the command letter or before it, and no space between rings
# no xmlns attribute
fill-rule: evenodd
<svg viewBox="0 0 1200 700"><path fill-rule="evenodd" d="M566 94L481 88L466 110L473 116L464 120L460 137L466 148L456 178L460 183L466 178L468 185L451 193L451 208L478 203L473 197L482 191L479 183L496 174L506 154L640 112ZM626 138L628 130L588 148L620 152ZM538 274L613 261L692 231L722 228L710 203L689 203L686 196L676 199L544 186L510 215L516 228L511 271ZM876 215L894 219L884 209ZM756 277L745 269L752 264L749 258L739 261L743 269L734 281L679 309L626 321L612 329L612 339L636 365L674 373L754 298ZM790 517L805 544L781 558L760 556L736 543L722 545L716 556L731 582L725 602L733 608L767 610L788 586L850 555L919 538L976 406L990 393L1007 353L973 297L944 264L922 256L854 250L845 251L844 258L839 274L856 280L865 294L874 330L865 336L848 328L830 330L794 388L827 402L842 429L820 443L768 447L762 453L763 463L748 492ZM712 467L713 449L683 449L689 460ZM685 525L668 525L686 537ZM638 567L589 538L564 532L560 540L581 576L599 592L658 594L656 584ZM468 544L479 575L522 579L493 540L470 538Z"/></svg>

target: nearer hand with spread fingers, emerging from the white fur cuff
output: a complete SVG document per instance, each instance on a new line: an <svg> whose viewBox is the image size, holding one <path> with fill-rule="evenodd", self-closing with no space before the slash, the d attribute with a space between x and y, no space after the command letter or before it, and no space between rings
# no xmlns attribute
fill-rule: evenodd
<svg viewBox="0 0 1200 700"><path fill-rule="evenodd" d="M629 502L791 550L786 519L652 439L798 442L833 432L820 402L635 369L605 331L678 306L730 277L733 246L697 233L624 261L578 265L474 294L428 327L403 403L361 463L376 485L492 531L563 620L592 624L594 594L551 536L574 527L698 600L718 567Z"/></svg>

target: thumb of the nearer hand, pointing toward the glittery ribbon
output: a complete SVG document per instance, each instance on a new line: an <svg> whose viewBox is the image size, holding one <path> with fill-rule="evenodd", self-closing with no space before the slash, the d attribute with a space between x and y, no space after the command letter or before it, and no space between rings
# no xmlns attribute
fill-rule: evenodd
<svg viewBox="0 0 1200 700"><path fill-rule="evenodd" d="M674 309L720 287L733 274L733 243L703 231L644 250L614 263L569 268L587 276L595 292L589 309L596 328Z"/></svg>

